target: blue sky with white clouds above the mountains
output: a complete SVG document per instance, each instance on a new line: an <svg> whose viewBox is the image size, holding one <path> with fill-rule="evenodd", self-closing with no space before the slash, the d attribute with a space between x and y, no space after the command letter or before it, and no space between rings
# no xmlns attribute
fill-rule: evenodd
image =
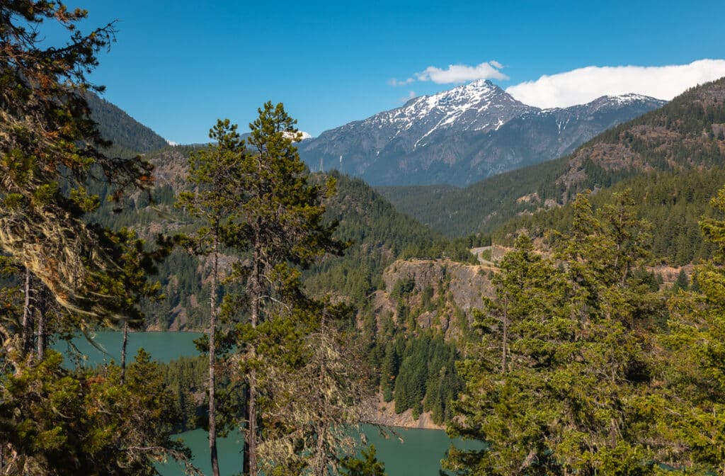
<svg viewBox="0 0 725 476"><path fill-rule="evenodd" d="M217 118L246 130L267 101L317 136L475 79L563 107L725 75L721 0L66 3L84 31L117 21L91 75L103 97L179 144Z"/></svg>

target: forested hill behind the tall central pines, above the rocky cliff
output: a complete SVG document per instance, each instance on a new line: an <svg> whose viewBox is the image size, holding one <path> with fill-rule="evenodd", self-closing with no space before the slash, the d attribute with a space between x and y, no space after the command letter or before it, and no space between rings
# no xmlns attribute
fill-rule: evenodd
<svg viewBox="0 0 725 476"><path fill-rule="evenodd" d="M176 193L188 189L188 155L197 146L164 147L146 157L154 165L155 184L149 192L132 194L120 204L106 203L94 216L105 226L133 226L141 237L153 241L159 233L191 232L193 218L174 206ZM415 219L397 212L372 187L336 171L336 194L326 202L325 219L338 222L335 237L350 242L341 258L326 258L305 273L305 285L314 293L335 292L363 305L370 293L382 286L382 274L398 258L452 258L471 261L468 248L480 239L451 240L431 231ZM315 174L323 183L328 175ZM100 190L104 200L105 190ZM103 203L103 202L102 202ZM222 260L223 266L228 260ZM147 323L155 329L201 329L207 309L199 305L208 298L206 276L209 263L185 250L173 251L159 263L158 276L164 300L146 303Z"/></svg>

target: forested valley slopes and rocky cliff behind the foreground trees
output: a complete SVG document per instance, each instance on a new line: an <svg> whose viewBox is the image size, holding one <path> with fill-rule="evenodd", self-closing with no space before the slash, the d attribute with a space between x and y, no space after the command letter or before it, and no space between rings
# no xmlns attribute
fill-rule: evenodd
<svg viewBox="0 0 725 476"><path fill-rule="evenodd" d="M336 237L351 241L352 246L343 258L325 258L312 266L305 280L313 295L333 292L336 299L357 308L354 321L360 350L370 368L379 372L373 375L378 386L365 421L418 428L450 425L449 402L463 391L454 363L465 361L471 345L476 345L480 312L491 305L486 300L498 298L500 291L492 279L500 273L506 253L515 249L515 237L525 231L542 250L555 248L557 239L549 232L570 232L576 215L574 198L585 189L596 191L590 198L600 211L618 194L630 193L637 216L651 223L653 258L639 262L642 268L636 273L640 285L660 295L653 294L652 299L664 299L674 285L689 287L690 263L710 258L714 252L699 234L698 217L711 216L709 198L725 181L716 166L723 159L721 139L699 132L707 131L713 121L712 130L717 129L718 112L703 114L690 104L708 104L708 98L718 98L723 84L718 81L689 91L659 110L597 136L570 155L486 178L465 189L441 185L373 189L358 178L331 172L337 190L327 203L326 219L337 222ZM663 134L659 124L671 124L673 130ZM688 141L687 150L706 152L666 149L667 144ZM138 219L133 216L154 217L144 218L144 236L188 226L180 227L173 218L178 211L170 191L185 186L185 157L194 150L166 147L149 155L157 167L157 187L167 192L156 195L153 209L136 205L120 215L129 221ZM676 157L682 155L688 160L678 162ZM645 159L650 160L647 163L640 157L653 158ZM671 158L657 162L654 157ZM667 166L658 168L660 163ZM312 174L318 183L323 177ZM208 288L182 290L180 283L203 283L208 262L205 265L202 258L195 265L196 258L184 258L187 264L181 265L181 255L175 253L175 264L159 272L159 276L171 276L173 270L177 276L161 281L172 298L165 307L149 311L156 319L164 312L170 317L151 325L203 330ZM228 255L220 263L233 259ZM678 278L679 266L684 265L684 278ZM222 268L231 269L228 266ZM185 267L201 276L182 278ZM680 283L683 279L684 284ZM662 322L666 317L658 314L649 319ZM452 378L436 379L436 374Z"/></svg>

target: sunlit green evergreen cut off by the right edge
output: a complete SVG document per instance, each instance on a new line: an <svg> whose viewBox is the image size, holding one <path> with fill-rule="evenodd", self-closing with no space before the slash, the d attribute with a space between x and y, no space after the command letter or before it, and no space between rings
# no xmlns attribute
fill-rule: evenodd
<svg viewBox="0 0 725 476"><path fill-rule="evenodd" d="M657 394L663 426L680 443L677 456L690 459L700 474L720 474L725 455L725 189L711 204L718 214L700 226L716 258L697 266L697 290L681 287L669 301L671 333L661 338L660 360L666 380Z"/></svg>

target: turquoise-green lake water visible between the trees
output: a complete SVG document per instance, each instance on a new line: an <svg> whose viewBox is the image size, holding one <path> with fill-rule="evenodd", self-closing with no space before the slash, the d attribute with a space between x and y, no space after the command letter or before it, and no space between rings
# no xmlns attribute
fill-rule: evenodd
<svg viewBox="0 0 725 476"><path fill-rule="evenodd" d="M182 356L195 356L197 351L194 340L200 336L199 332L130 332L128 360L132 361L136 351L141 347L149 351L154 360L160 362L172 361ZM110 360L120 361L121 339L121 332L96 332L94 341L103 350L91 345L86 337L76 337L72 342L80 352L88 356L86 361L88 365L96 365ZM54 348L68 355L65 342L56 343ZM368 438L367 444L375 445L378 460L385 463L388 476L437 476L440 460L445 457L451 443L450 438L442 430L394 428L391 432L395 432L397 436L391 434L389 438L380 435L375 427L365 426L363 430ZM179 436L194 452L194 464L202 469L204 474L210 475L207 432L193 430ZM239 432L218 440L219 466L223 476L231 476L241 471L241 446ZM476 443L460 441L456 442L456 446L479 447ZM181 467L174 461L159 466L159 472L163 476L183 475Z"/></svg>

